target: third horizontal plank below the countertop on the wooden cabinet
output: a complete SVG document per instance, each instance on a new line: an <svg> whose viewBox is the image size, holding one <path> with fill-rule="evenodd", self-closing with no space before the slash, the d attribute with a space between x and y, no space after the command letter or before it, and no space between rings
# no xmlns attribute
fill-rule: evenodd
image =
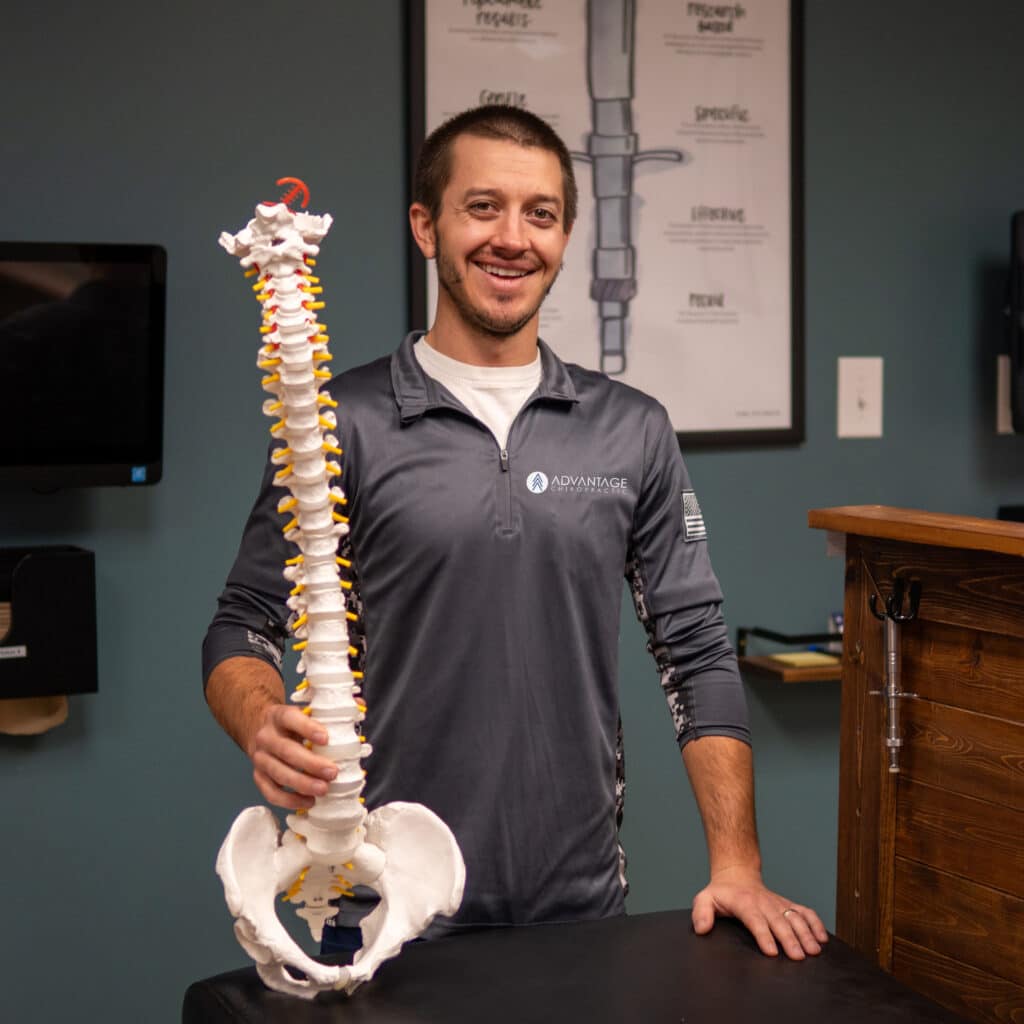
<svg viewBox="0 0 1024 1024"><path fill-rule="evenodd" d="M1024 725L928 700L904 700L900 711L906 775L1024 811Z"/></svg>

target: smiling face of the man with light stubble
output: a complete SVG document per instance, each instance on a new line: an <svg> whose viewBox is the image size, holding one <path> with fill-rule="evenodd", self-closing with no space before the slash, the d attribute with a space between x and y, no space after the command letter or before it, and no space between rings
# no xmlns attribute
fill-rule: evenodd
<svg viewBox="0 0 1024 1024"><path fill-rule="evenodd" d="M568 243L562 171L547 150L460 135L434 226L438 304L495 338L541 308Z"/></svg>

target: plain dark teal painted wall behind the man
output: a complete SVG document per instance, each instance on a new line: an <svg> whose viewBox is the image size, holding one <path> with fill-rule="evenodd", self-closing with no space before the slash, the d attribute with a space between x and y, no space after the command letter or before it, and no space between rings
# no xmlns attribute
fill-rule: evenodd
<svg viewBox="0 0 1024 1024"><path fill-rule="evenodd" d="M186 984L243 963L217 848L254 803L207 715L199 643L264 446L252 316L216 245L273 179L335 227L321 264L341 362L404 328L401 19L395 2L94 0L5 11L0 237L159 242L170 263L166 476L144 490L4 495L0 543L96 552L100 692L0 737L3 1016L175 1020ZM817 630L842 600L812 507L980 515L1024 502L995 437L1008 217L1024 207L1015 0L808 0L807 408L799 449L693 455L730 623ZM294 45L307 53L294 63ZM835 437L836 358L886 358L883 440ZM88 386L88 382L83 382ZM623 630L634 911L705 872L640 631ZM833 923L837 684L750 687L769 879ZM42 961L40 957L51 959ZM60 984L54 983L59 978Z"/></svg>

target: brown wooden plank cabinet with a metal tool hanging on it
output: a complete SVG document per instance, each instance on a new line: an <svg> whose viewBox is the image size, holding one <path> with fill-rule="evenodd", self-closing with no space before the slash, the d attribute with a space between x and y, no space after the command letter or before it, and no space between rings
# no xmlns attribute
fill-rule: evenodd
<svg viewBox="0 0 1024 1024"><path fill-rule="evenodd" d="M836 932L976 1021L1024 1022L1024 524L855 506L846 535ZM870 609L920 583L898 626L898 772L886 630ZM872 692L873 691L873 692Z"/></svg>

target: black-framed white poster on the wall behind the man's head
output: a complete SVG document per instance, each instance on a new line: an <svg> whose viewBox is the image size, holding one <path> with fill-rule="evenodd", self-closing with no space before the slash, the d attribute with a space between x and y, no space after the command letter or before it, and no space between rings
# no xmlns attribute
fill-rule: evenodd
<svg viewBox="0 0 1024 1024"><path fill-rule="evenodd" d="M493 102L572 152L545 341L656 397L685 449L802 441L802 0L411 0L409 17L412 158ZM411 246L422 328L436 279Z"/></svg>

